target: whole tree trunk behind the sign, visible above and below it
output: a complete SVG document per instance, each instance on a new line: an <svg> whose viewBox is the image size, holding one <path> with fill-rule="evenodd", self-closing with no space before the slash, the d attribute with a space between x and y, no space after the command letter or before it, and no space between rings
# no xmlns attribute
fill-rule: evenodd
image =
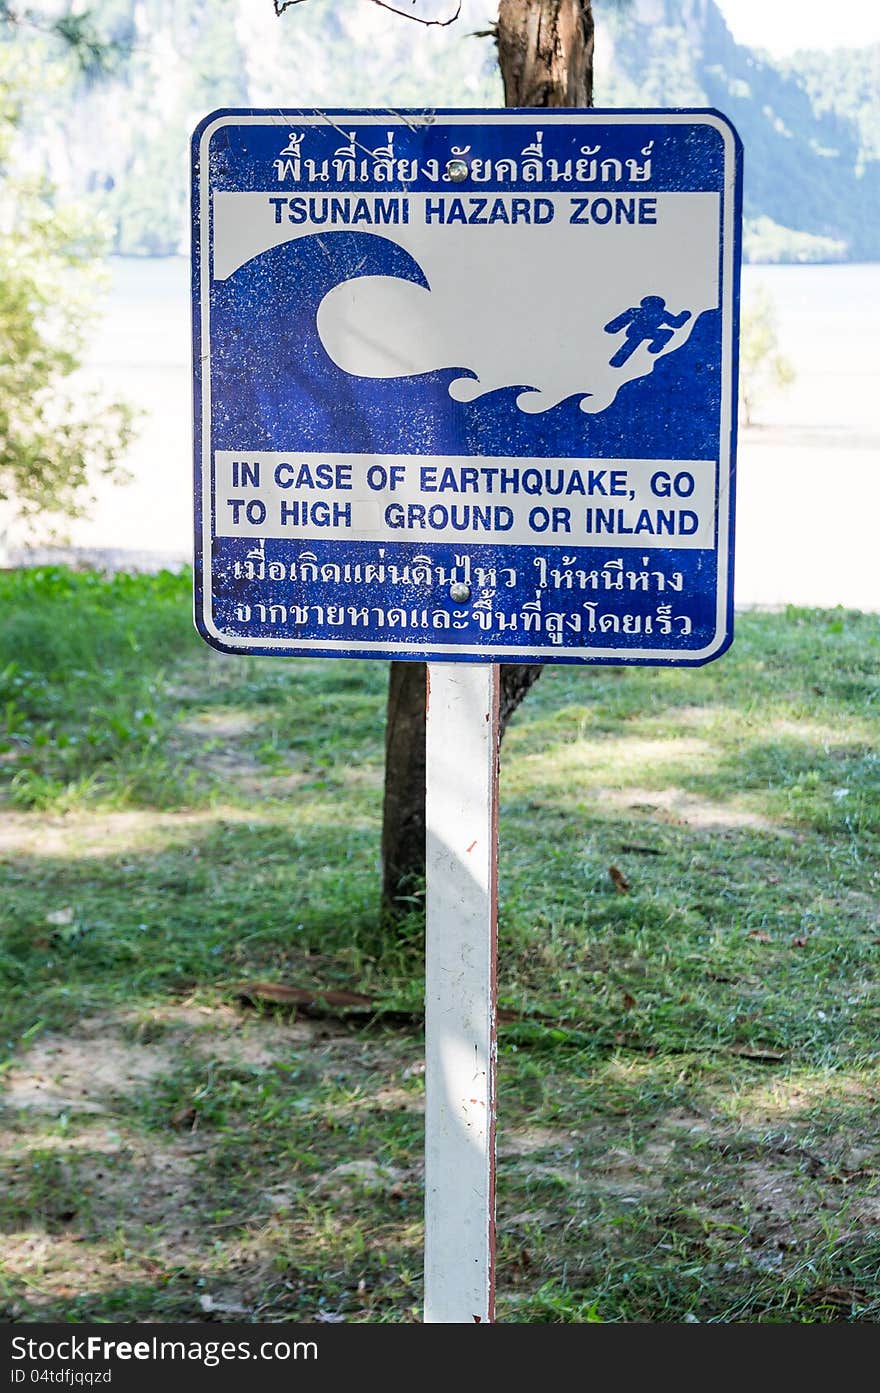
<svg viewBox="0 0 880 1393"><path fill-rule="evenodd" d="M498 65L507 106L593 104L590 0L500 0ZM501 664L501 734L543 671ZM425 883L425 664L391 663L382 823L382 901L405 912Z"/></svg>

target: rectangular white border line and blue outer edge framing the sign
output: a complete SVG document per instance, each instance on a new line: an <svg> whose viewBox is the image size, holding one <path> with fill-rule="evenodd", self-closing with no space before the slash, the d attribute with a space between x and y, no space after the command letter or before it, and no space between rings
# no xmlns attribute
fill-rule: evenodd
<svg viewBox="0 0 880 1393"><path fill-rule="evenodd" d="M382 127L387 128L388 124L395 121L401 125L418 127L418 125L489 125L498 120L510 123L512 125L533 125L536 120L535 111L511 111L500 116L497 111L443 111L443 113L427 113L422 116L415 111L398 113L394 110L387 111L361 111L349 113L345 111L345 123L348 125L365 125L365 127ZM259 651L263 653L313 653L320 656L322 653L349 653L352 656L358 655L376 655L376 656L394 656L400 659L418 659L432 662L433 659L448 657L451 660L462 659L465 655L471 659L478 659L480 662L536 662L536 660L551 660L554 663L576 662L576 660L602 660L606 663L622 662L634 663L642 660L643 663L691 663L698 666L700 663L709 662L720 649L728 642L727 631L727 612L730 602L730 585L732 584L731 566L730 566L730 488L728 481L731 476L731 442L732 442L732 365L734 365L734 280L735 280L735 188L737 188L737 150L734 145L734 131L732 127L721 116L716 116L712 111L606 111L599 107L590 107L589 111L578 111L578 114L588 114L590 118L600 117L604 125L709 125L718 131L724 141L724 189L720 201L721 206L721 227L718 228L721 238L721 415L720 415L720 450L718 450L718 464L716 475L716 557L717 557L717 589L716 589L716 632L713 641L702 649L657 649L657 648L564 648L549 651L544 648L529 648L526 645L504 649L500 653L497 649L489 645L479 644L437 644L414 639L408 644L390 645L387 638L380 641L355 641L355 639L333 639L333 638L260 638L259 644L255 644L251 637L239 637L223 634L214 627L213 614L210 613L210 600L213 595L212 585L212 540L213 540L213 508L214 508L214 479L213 479L213 450L210 440L210 281L212 281L212 258L213 258L213 242L212 242L212 224L210 224L210 188L206 170L209 169L209 146L210 139L216 131L226 125L278 125L287 128L290 125L291 113L272 113L266 111L262 114L246 113L246 114L221 114L216 120L210 121L202 131L199 141L199 326L201 326L201 343L202 343L202 362L201 362L201 394L202 394L202 517L201 517L201 539L202 539L202 623L205 635L210 634L217 639L226 651L249 653ZM572 123L572 110L560 109L558 111L540 111L542 123L565 125ZM297 123L301 125L331 125L336 127L336 120L329 114L322 113L299 113L297 111ZM574 458L574 457L572 457ZM199 524L199 520L196 520ZM487 655L493 655L492 659Z"/></svg>

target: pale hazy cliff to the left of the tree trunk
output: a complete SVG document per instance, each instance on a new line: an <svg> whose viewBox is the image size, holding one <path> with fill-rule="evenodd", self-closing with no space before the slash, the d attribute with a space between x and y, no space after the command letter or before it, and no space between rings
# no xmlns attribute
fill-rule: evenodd
<svg viewBox="0 0 880 1393"><path fill-rule="evenodd" d="M107 213L116 252L182 252L189 135L209 111L501 106L494 45L476 32L492 18L493 0L465 0L448 28L365 0L309 0L281 18L272 0L107 0L102 32L129 57L116 82L82 77L71 92L61 123L74 170Z"/></svg>

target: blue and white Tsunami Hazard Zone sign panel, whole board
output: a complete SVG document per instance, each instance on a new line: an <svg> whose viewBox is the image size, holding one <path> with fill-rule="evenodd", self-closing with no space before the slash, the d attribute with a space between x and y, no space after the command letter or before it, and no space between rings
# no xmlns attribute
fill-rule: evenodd
<svg viewBox="0 0 880 1393"><path fill-rule="evenodd" d="M209 644L724 652L742 202L724 116L216 111L192 157Z"/></svg>

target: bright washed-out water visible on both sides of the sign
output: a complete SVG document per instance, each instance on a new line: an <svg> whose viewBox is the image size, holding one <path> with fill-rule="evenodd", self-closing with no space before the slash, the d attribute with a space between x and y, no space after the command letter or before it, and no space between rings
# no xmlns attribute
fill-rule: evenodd
<svg viewBox="0 0 880 1393"><path fill-rule="evenodd" d="M104 489L78 547L192 556L189 267L114 258L85 376L145 408L134 482ZM880 610L880 265L745 266L764 286L795 382L741 430L735 600Z"/></svg>

